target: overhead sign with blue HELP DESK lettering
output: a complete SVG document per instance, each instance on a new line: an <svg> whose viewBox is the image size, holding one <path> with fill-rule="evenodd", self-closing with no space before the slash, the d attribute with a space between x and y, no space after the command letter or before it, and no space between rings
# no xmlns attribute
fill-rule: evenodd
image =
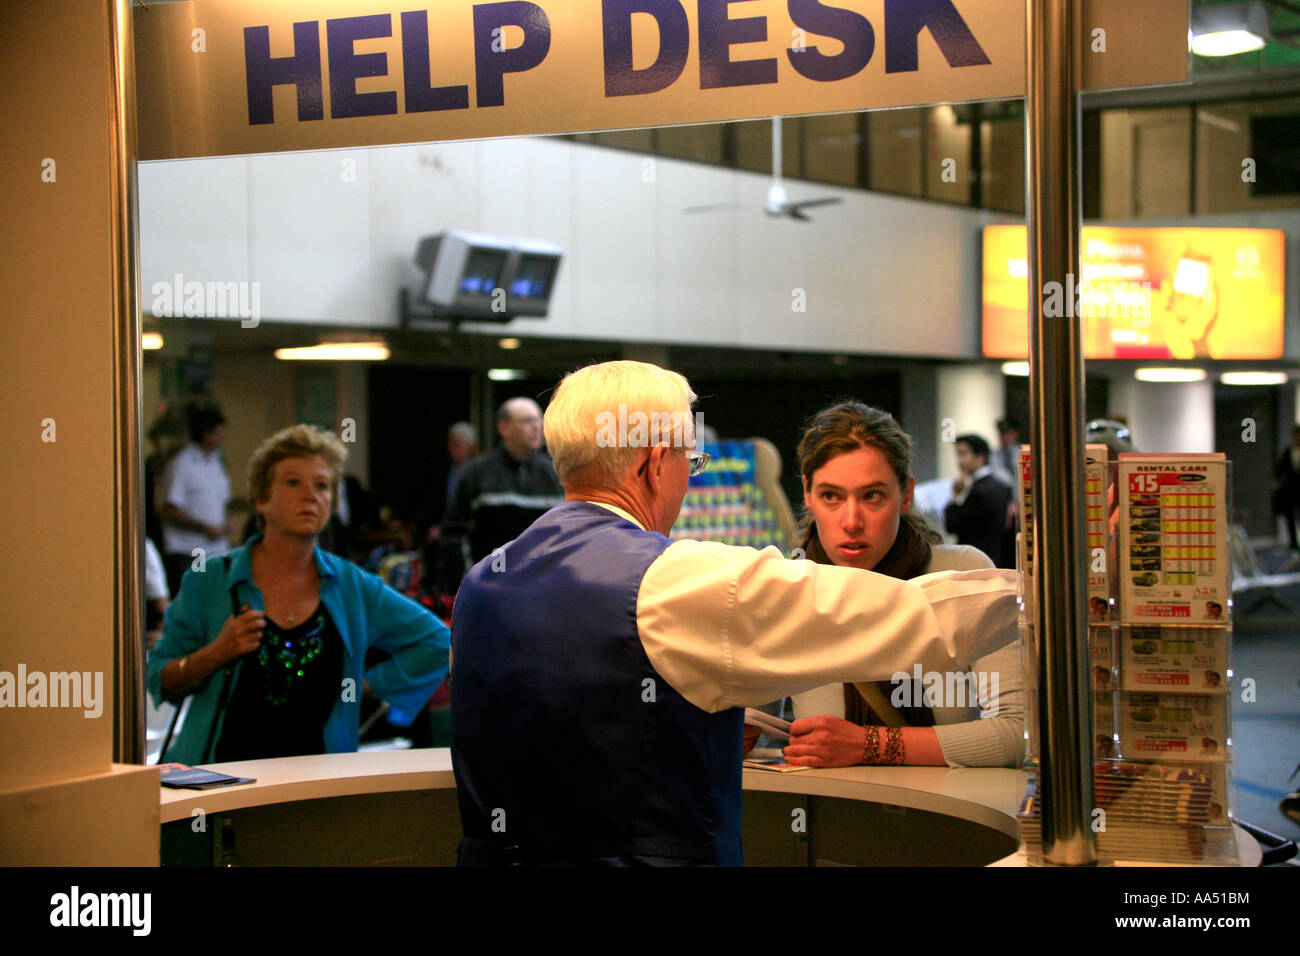
<svg viewBox="0 0 1300 956"><path fill-rule="evenodd" d="M1082 10L1086 87L1186 81L1186 0ZM192 0L134 26L144 160L1024 95L1024 0Z"/></svg>

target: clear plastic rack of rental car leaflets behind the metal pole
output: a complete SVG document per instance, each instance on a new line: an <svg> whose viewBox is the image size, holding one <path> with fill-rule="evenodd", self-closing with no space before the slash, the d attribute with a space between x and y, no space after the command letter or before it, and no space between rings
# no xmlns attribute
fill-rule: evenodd
<svg viewBox="0 0 1300 956"><path fill-rule="evenodd" d="M1020 628L1028 701L1024 769L1031 783L1020 813L1020 852L1032 864L1043 862L1043 856L1027 458L1026 449L1019 567L1027 598ZM1124 455L1122 462L1104 466L1100 562L1095 519L1102 488L1093 476L1088 481L1088 670L1097 803L1092 825L1098 861L1234 865L1226 544L1231 463L1222 455ZM1165 477L1145 477L1152 475ZM1105 580L1098 575L1102 567Z"/></svg>

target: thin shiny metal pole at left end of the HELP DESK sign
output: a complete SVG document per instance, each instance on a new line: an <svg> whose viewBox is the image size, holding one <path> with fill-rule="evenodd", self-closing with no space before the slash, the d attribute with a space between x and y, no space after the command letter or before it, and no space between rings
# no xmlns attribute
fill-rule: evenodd
<svg viewBox="0 0 1300 956"><path fill-rule="evenodd" d="M129 0L108 0L113 173L113 760L144 762L144 520L140 476L140 311L135 274L135 61Z"/></svg>

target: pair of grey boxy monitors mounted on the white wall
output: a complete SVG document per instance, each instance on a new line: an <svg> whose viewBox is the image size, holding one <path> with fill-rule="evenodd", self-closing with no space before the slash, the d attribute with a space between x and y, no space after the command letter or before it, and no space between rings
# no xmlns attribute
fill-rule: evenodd
<svg viewBox="0 0 1300 956"><path fill-rule="evenodd" d="M540 239L448 229L426 235L416 247L424 276L415 298L437 317L545 316L563 256L563 248Z"/></svg>

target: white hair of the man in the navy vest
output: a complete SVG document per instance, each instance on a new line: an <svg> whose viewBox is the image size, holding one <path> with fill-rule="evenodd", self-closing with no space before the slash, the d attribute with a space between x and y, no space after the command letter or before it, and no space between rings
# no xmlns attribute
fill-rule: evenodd
<svg viewBox="0 0 1300 956"><path fill-rule="evenodd" d="M566 485L614 488L653 445L690 447L696 393L677 372L646 362L602 362L569 372L546 406L546 449ZM640 425L640 427L638 427Z"/></svg>

